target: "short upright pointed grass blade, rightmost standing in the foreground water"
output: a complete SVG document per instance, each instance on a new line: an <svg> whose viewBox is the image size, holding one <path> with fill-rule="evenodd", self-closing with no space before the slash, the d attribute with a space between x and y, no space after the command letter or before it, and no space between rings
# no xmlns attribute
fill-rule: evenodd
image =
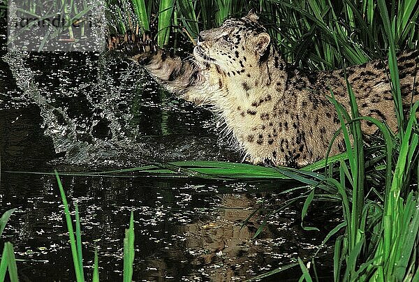
<svg viewBox="0 0 419 282"><path fill-rule="evenodd" d="M133 279L134 240L134 212L131 211L129 228L125 230L124 238L124 282L131 282Z"/></svg>

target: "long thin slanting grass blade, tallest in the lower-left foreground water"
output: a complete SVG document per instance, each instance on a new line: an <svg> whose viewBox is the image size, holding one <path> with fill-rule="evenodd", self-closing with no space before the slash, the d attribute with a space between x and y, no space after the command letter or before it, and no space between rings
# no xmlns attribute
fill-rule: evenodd
<svg viewBox="0 0 419 282"><path fill-rule="evenodd" d="M75 242L74 231L73 231L73 221L71 221L70 211L68 209L68 203L66 198L66 193L64 192L63 185L61 184L61 179L59 178L57 170L54 171L55 177L57 178L57 184L59 188L59 193L61 194L61 200L64 205L64 214L66 215L66 223L68 230L68 237L70 237L70 246L71 254L73 255L73 265L75 270L75 279L78 282L84 281L83 269L80 269L80 263L78 258L77 244Z"/></svg>

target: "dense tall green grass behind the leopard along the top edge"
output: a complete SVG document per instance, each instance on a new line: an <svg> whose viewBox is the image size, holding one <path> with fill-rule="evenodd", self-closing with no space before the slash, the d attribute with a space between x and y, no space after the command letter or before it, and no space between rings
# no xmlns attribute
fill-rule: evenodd
<svg viewBox="0 0 419 282"><path fill-rule="evenodd" d="M272 38L277 39L284 58L311 69L341 68L344 61L362 64L382 57L382 48L386 45L385 27L374 0L132 1L134 9L107 1L108 10L119 17L116 22L125 26L115 24L115 17L111 15L112 32L132 29L133 24L129 27L126 22L128 18L136 18L141 27L156 21L158 28L154 34L161 46L170 42L167 36L175 35L175 30L189 40L189 35L196 38L200 29L218 27L227 17L241 17L251 9L258 11L261 22ZM397 1L390 10L390 18L397 17L395 46L413 48L419 38L417 1ZM151 29L152 24L148 27ZM337 50L335 37L341 52Z"/></svg>

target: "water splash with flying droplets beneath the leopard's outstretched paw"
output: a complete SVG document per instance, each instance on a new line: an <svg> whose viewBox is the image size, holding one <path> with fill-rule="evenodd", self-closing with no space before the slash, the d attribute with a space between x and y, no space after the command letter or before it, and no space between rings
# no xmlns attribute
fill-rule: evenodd
<svg viewBox="0 0 419 282"><path fill-rule="evenodd" d="M24 100L38 105L44 134L64 154L60 163L126 166L235 154L218 143L208 112L179 103L117 57L15 51L3 61Z"/></svg>

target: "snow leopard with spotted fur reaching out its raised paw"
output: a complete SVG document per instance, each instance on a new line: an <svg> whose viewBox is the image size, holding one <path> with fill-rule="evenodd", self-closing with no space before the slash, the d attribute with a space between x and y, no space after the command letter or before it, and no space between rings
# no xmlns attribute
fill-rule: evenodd
<svg viewBox="0 0 419 282"><path fill-rule="evenodd" d="M340 128L328 98L330 89L350 110L344 71L299 71L281 59L270 41L257 15L249 13L201 32L193 59L186 61L169 57L149 38L133 35L111 39L110 47L136 53L133 59L180 98L212 105L251 162L300 167L324 158ZM418 58L416 51L398 60L406 109L419 100ZM397 131L385 64L371 61L347 68L346 74L360 114L385 121ZM376 127L365 122L362 131L371 135ZM339 136L331 155L344 149Z"/></svg>

